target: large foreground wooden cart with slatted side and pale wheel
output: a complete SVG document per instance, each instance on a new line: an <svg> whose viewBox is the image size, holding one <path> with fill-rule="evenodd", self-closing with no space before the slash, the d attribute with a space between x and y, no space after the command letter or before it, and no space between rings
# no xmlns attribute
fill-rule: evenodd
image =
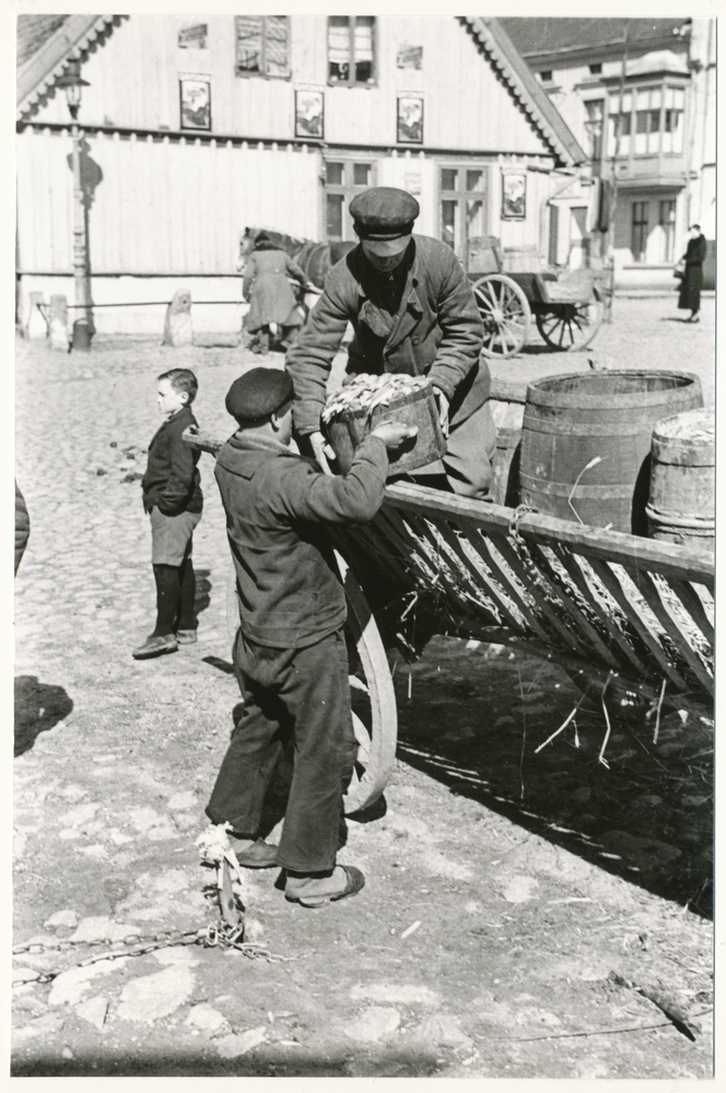
<svg viewBox="0 0 726 1093"><path fill-rule="evenodd" d="M213 455L221 447L199 435L186 439ZM578 684L607 682L616 695L624 690L712 714L713 555L408 483L387 487L370 524L338 529L335 538L359 742L349 814L380 796L393 768L397 714L387 649L413 651L417 626L419 636L515 635ZM227 588L233 639L234 571Z"/></svg>

